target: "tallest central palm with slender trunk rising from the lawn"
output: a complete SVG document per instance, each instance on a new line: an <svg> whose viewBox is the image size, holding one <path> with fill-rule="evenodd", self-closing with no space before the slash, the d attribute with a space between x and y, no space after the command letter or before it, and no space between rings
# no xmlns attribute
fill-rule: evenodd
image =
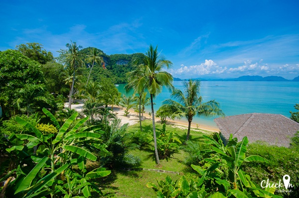
<svg viewBox="0 0 299 198"><path fill-rule="evenodd" d="M169 68L172 63L171 61L165 60L160 56L157 51L157 46L153 48L152 45L150 45L149 50L146 52L145 56L138 58L135 61L135 65L137 65L137 69L130 73L130 76L135 76L135 78L133 78L129 82L128 87L132 87L135 90L135 93L142 93L145 89L148 89L149 91L154 152L156 163L160 164L155 133L153 97L161 92L162 86L172 88L173 78L171 74L163 71L163 69Z"/></svg>

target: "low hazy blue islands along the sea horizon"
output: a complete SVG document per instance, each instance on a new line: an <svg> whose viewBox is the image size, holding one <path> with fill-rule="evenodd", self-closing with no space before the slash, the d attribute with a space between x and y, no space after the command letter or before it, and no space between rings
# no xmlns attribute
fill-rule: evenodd
<svg viewBox="0 0 299 198"><path fill-rule="evenodd" d="M299 82L299 76L293 80L288 80L281 76L240 76L239 78L225 78L225 79L204 79L204 78L192 78L193 80L201 81L289 81L289 82ZM187 79L173 78L174 81L181 81Z"/></svg>

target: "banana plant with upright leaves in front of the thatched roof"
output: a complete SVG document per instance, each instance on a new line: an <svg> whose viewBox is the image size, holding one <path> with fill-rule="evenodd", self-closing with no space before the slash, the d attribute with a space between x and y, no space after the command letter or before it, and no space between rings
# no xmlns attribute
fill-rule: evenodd
<svg viewBox="0 0 299 198"><path fill-rule="evenodd" d="M242 171L243 162L267 162L266 159L252 155L246 156L248 138L244 137L241 142L231 135L227 145L225 146L217 134L218 141L203 135L205 143L210 145L210 158L204 159L205 167L191 165L197 171L201 178L198 178L197 185L202 185L209 181L210 186L217 189L224 189L224 194L232 195L237 198L248 198L249 192L255 196L262 197L279 197L275 196L273 189L262 190L259 186L250 180L250 176ZM207 180L205 180L207 179Z"/></svg>

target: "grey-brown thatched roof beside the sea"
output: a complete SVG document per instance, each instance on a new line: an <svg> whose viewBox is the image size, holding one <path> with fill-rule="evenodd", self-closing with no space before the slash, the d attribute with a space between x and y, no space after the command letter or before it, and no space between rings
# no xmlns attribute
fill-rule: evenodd
<svg viewBox="0 0 299 198"><path fill-rule="evenodd" d="M290 138L299 131L299 123L281 115L250 113L214 119L221 134L228 140L230 134L241 141L264 141L271 145L290 146Z"/></svg>

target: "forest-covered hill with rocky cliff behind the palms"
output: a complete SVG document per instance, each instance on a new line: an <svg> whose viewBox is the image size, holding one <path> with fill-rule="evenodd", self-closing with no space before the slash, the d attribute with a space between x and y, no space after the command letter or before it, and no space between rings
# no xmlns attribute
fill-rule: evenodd
<svg viewBox="0 0 299 198"><path fill-rule="evenodd" d="M81 50L84 54L88 54L91 47L87 47ZM126 73L132 71L133 61L140 56L144 56L143 53L134 54L112 54L107 55L104 51L97 49L102 53L105 65L99 66L95 64L94 71L91 76L93 79L99 79L102 77L110 78L115 84L126 83ZM88 63L86 63L88 66ZM105 69L103 69L105 66Z"/></svg>

